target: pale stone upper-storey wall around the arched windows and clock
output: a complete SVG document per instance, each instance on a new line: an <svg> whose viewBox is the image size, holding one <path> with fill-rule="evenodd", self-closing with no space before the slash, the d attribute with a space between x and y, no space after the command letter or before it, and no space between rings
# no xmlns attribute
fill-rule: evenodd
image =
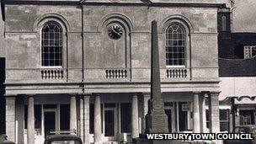
<svg viewBox="0 0 256 144"><path fill-rule="evenodd" d="M168 79L165 64L165 29L168 24L179 22L184 24L187 41L186 67L182 67L187 73L182 81L198 83L207 81L214 85L197 85L196 90L199 91L211 91L218 88L216 5L212 7L203 5L200 7L193 5L148 7L143 4L108 4L88 2L83 5L82 25L82 6L78 3L60 5L7 3L5 5L5 40L6 50L8 50L7 83L81 83L83 77L86 83L149 83L151 22L156 19L162 81L173 81ZM63 72L61 79L42 79L44 76L41 73L48 70L41 67L40 30L47 20L56 20L64 31L63 65L61 70L54 70ZM120 40L109 38L108 29L112 20L118 22L124 29ZM82 27L84 28L83 43ZM121 78L109 78L109 72L114 72L116 77ZM181 82L180 80L176 78L174 81ZM77 88L77 85L74 87L80 88L80 86ZM61 88L65 89L62 86ZM186 89L191 91L191 89ZM9 90L12 92L12 89ZM78 93L76 90L74 92Z"/></svg>

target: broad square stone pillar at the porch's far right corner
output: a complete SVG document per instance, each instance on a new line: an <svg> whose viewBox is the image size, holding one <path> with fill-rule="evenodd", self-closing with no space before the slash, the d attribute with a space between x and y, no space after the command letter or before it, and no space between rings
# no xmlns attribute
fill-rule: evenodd
<svg viewBox="0 0 256 144"><path fill-rule="evenodd" d="M220 118L219 118L219 93L213 92L209 96L209 120L210 132L220 132Z"/></svg>

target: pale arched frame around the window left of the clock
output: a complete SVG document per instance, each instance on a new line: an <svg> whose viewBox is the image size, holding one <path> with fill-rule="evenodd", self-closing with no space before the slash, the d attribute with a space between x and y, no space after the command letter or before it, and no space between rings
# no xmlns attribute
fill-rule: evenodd
<svg viewBox="0 0 256 144"><path fill-rule="evenodd" d="M43 57L42 57L42 52L43 52L43 44L42 44L42 39L43 39L43 29L45 28L45 26L47 24L56 24L59 29L61 29L61 66L43 66ZM63 26L55 21L55 20L48 20L46 21L42 26L41 26L41 29L40 29L40 67L41 68L62 68L63 67L63 64L64 64L64 29L63 29Z"/></svg>

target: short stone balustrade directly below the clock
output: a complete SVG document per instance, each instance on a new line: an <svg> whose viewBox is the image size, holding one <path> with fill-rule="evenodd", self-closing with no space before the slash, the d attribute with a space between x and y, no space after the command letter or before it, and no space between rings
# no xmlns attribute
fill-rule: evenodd
<svg viewBox="0 0 256 144"><path fill-rule="evenodd" d="M128 69L107 69L105 70L105 77L106 78L127 78L128 77Z"/></svg>

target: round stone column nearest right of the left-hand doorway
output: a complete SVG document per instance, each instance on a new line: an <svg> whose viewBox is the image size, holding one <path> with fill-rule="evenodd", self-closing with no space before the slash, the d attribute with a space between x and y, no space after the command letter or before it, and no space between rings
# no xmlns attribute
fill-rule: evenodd
<svg viewBox="0 0 256 144"><path fill-rule="evenodd" d="M70 130L77 133L77 99L70 96Z"/></svg>

